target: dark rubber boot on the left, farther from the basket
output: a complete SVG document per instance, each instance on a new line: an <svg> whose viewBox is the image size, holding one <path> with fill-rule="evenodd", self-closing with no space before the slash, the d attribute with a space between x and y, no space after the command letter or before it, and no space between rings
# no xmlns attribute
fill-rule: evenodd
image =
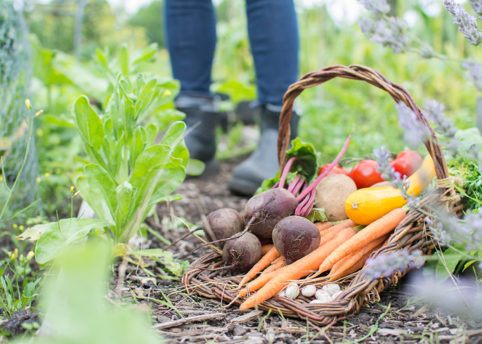
<svg viewBox="0 0 482 344"><path fill-rule="evenodd" d="M216 154L216 126L219 111L216 99L180 96L176 99L176 108L186 114L186 142L189 157L206 164L202 177L216 174L218 162Z"/></svg>

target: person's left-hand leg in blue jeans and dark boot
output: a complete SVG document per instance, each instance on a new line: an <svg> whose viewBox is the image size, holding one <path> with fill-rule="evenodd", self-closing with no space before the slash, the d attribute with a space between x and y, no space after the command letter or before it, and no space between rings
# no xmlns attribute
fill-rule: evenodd
<svg viewBox="0 0 482 344"><path fill-rule="evenodd" d="M216 104L209 92L216 47L216 15L211 0L166 0L165 32L172 74L181 85L176 108L186 114L189 156L206 162L208 169L216 153L218 123Z"/></svg>

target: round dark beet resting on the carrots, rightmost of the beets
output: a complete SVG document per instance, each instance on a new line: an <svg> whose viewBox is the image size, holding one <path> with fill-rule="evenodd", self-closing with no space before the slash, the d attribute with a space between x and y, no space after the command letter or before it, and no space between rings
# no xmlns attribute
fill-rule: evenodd
<svg viewBox="0 0 482 344"><path fill-rule="evenodd" d="M316 250L320 239L317 226L300 216L285 217L273 229L273 244L287 264Z"/></svg>

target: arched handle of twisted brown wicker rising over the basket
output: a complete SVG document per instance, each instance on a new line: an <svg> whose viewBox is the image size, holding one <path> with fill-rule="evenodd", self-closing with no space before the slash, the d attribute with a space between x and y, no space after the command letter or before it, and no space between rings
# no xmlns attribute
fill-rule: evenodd
<svg viewBox="0 0 482 344"><path fill-rule="evenodd" d="M395 102L404 102L410 109L412 109L417 115L420 125L424 125L430 133L429 140L423 143L425 144L425 147L427 147L428 153L430 153L434 161L437 179L445 179L448 177L447 164L445 158L443 158L439 139L430 126L430 122L428 122L425 116L422 116L420 107L415 104L415 100L413 100L410 93L408 93L404 87L388 81L383 74L377 72L375 69L363 65L350 65L348 67L344 65L333 65L325 67L317 72L304 74L300 80L289 87L283 98L283 109L280 115L280 133L277 138L280 171L283 171L284 165L286 164L286 149L288 149L290 143L291 129L289 120L291 118L291 111L293 110L293 102L304 89L321 85L336 77L366 81L370 85L378 87L379 89L384 89L390 94L390 96L392 96Z"/></svg>

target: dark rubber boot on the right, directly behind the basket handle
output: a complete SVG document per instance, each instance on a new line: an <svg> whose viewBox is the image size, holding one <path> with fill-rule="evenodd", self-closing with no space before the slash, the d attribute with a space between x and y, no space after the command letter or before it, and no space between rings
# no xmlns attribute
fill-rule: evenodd
<svg viewBox="0 0 482 344"><path fill-rule="evenodd" d="M266 105L261 111L261 136L256 149L247 160L235 167L229 189L235 193L254 195L263 180L273 178L280 165L277 162L277 136L281 107ZM299 116L291 115L291 139L296 137Z"/></svg>

